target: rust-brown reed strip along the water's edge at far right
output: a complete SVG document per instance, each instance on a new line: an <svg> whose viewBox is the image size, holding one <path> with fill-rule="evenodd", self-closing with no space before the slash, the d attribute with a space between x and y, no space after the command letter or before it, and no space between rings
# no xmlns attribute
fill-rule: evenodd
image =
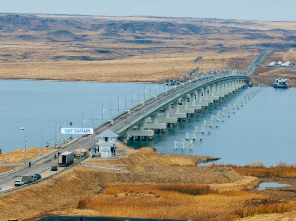
<svg viewBox="0 0 296 221"><path fill-rule="evenodd" d="M286 162L280 161L274 166L264 166L264 163L250 163L245 166L237 166L233 164L215 164L215 166L228 166L240 173L243 176L253 176L253 177L286 177L286 178L296 178L296 164L288 164Z"/></svg>

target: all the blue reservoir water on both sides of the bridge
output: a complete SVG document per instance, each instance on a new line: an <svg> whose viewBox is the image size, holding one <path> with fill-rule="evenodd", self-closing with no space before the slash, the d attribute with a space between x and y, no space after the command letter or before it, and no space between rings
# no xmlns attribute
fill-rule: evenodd
<svg viewBox="0 0 296 221"><path fill-rule="evenodd" d="M164 87L156 86L156 90ZM67 126L67 118L68 124L72 122L74 128L79 128L82 126L82 112L85 112L84 121L87 120L83 127L91 126L93 107L94 123L98 123L102 120L102 109L103 119L107 119L118 113L118 104L119 110L125 109L132 105L132 97L135 104L144 99L145 93L148 97L157 92L154 87L154 84L144 87L144 84L128 83L0 80L0 148L4 153L23 149L25 135L31 133L35 134L27 136L27 143L40 144L41 129L46 128L42 137L44 143L55 137L56 123L62 122L57 124L57 128ZM296 88L263 88L234 114L231 113L229 118L226 117L224 122L220 121L218 128L213 126L211 134L205 133L202 141L193 141L192 150L185 147L185 150L179 148L174 151L175 140L181 142L185 132L201 126L204 120L209 121L211 115L236 102L246 92L247 89L241 90L214 103L207 110L188 117L185 122L178 122L176 127L167 128L164 134L154 134L152 140L128 141L128 145L135 148L154 147L158 152L167 154L217 156L221 158L218 163L245 165L261 160L268 166L281 160L296 162ZM121 95L119 102L118 95ZM24 130L20 130L21 126ZM52 146L54 141L49 143Z"/></svg>

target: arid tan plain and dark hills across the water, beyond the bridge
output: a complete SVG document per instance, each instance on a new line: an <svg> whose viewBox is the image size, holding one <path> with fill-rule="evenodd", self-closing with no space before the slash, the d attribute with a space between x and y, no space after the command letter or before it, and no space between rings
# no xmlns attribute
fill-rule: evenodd
<svg viewBox="0 0 296 221"><path fill-rule="evenodd" d="M0 78L154 82L176 76L171 67L212 68L210 57L244 69L264 49L295 47L295 29L293 22L1 13Z"/></svg>

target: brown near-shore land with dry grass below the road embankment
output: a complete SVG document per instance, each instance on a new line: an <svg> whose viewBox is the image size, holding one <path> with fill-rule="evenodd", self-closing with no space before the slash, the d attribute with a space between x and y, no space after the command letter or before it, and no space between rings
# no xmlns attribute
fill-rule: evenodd
<svg viewBox="0 0 296 221"><path fill-rule="evenodd" d="M284 178L295 176L294 165L282 163L284 167L273 169L256 163L233 165L236 172L228 165L196 166L216 157L167 155L121 144L118 149L126 152L115 159L90 158L87 164L120 167L126 172L76 165L37 185L3 193L0 219L33 221L51 214L196 221L295 217L296 181ZM259 182L291 186L257 190Z"/></svg>

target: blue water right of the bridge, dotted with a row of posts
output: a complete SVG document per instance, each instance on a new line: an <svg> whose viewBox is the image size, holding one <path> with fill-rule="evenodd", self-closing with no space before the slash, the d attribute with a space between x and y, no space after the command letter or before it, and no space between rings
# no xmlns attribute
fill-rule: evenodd
<svg viewBox="0 0 296 221"><path fill-rule="evenodd" d="M264 88L243 107L220 120L218 128L213 126L211 134L205 132L202 141L195 140L193 150L186 147L174 151L174 141L185 139L185 132L209 121L247 92L242 90L228 96L207 110L178 122L177 127L167 128L165 134L154 134L150 141L128 141L133 147L155 147L160 153L216 156L219 162L245 165L261 160L266 166L279 161L296 162L296 88ZM191 132L192 133L192 132ZM209 164L209 163L208 163Z"/></svg>

